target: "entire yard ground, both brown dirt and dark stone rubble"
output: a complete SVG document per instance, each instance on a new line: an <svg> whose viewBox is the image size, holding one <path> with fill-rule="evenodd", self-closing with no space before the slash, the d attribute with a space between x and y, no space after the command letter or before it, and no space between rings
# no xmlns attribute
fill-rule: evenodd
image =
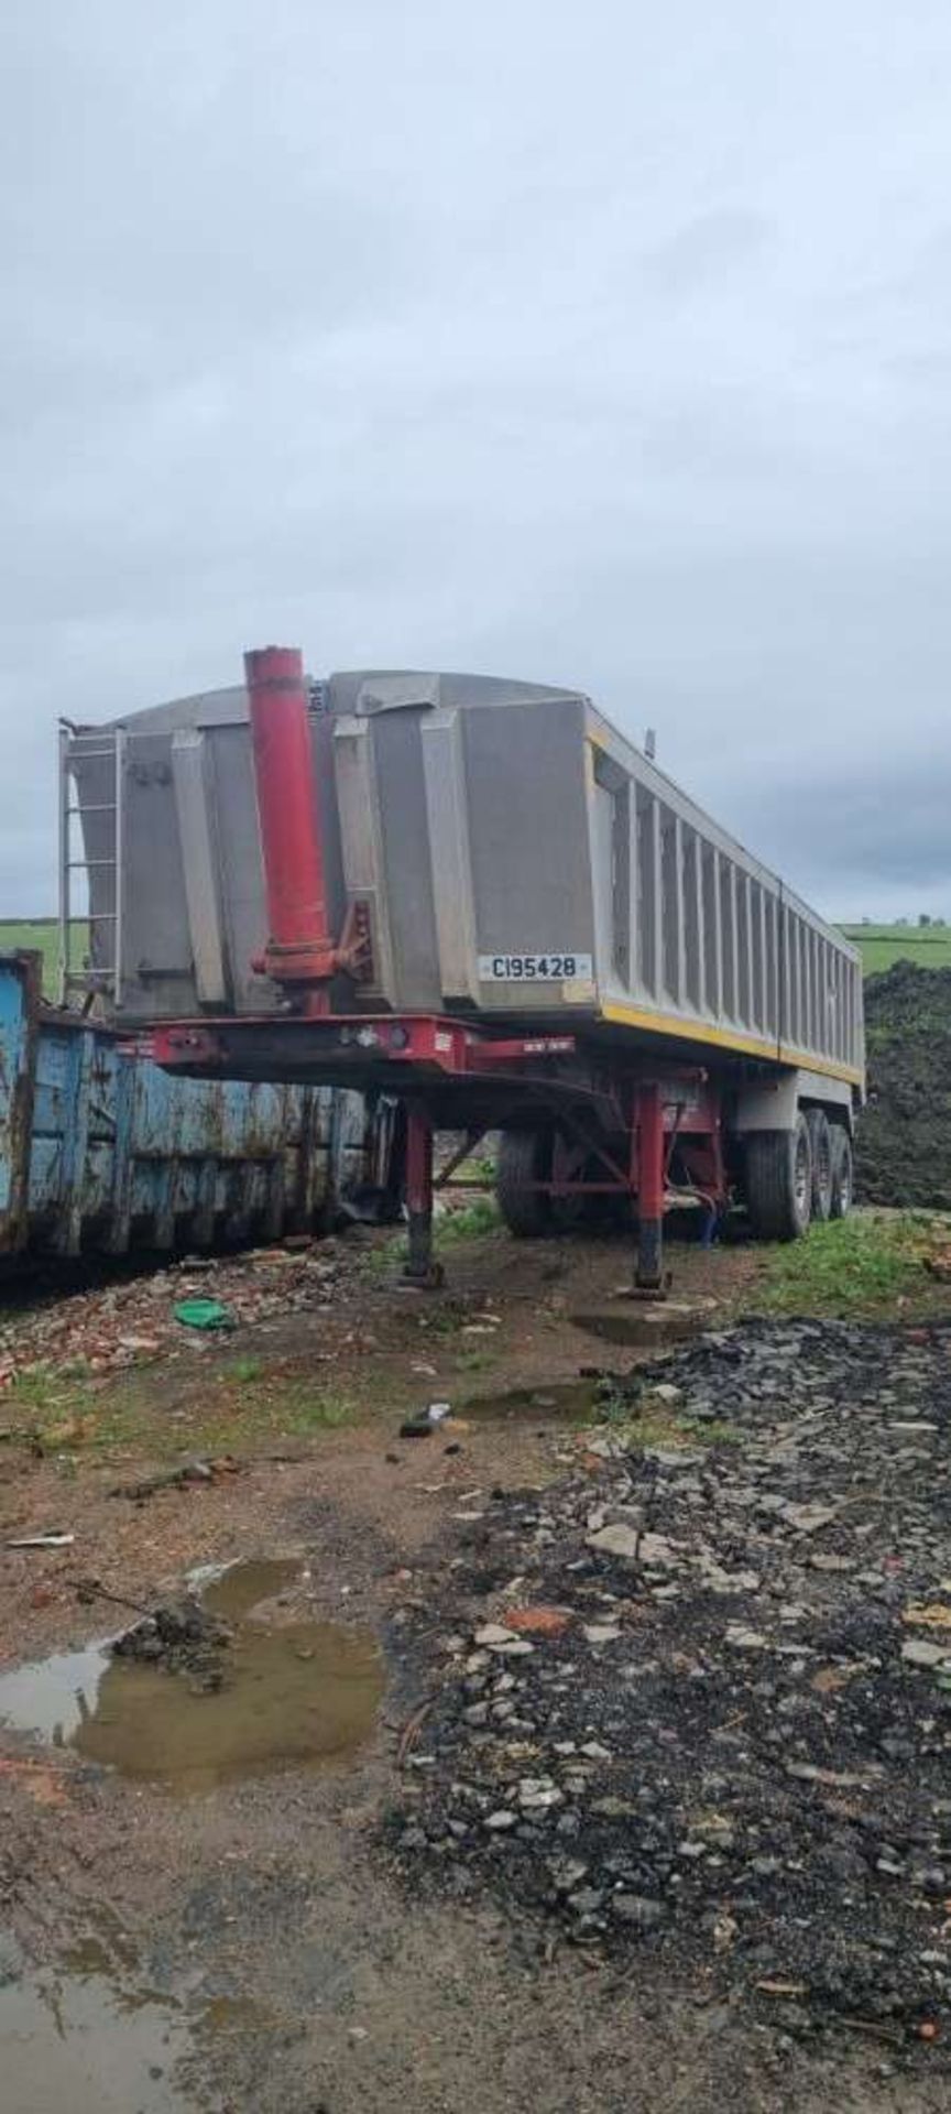
<svg viewBox="0 0 951 2114"><path fill-rule="evenodd" d="M127 1776L85 1733L0 1727L11 2108L947 2114L945 2042L919 2038L943 2027L945 1338L909 1323L949 1302L917 1251L896 1271L883 1243L869 1275L877 1228L854 1256L841 1228L805 1243L792 1285L786 1251L778 1285L769 1251L676 1247L659 1311L617 1298L623 1245L492 1232L450 1243L427 1300L351 1239L8 1306L0 1575L30 1698L232 1564L216 1594L287 1575L249 1619L321 1740L300 1624L372 1632L387 1679L347 1757L300 1765L268 1706L275 1769L213 1786L173 1782L150 1733ZM731 1328L831 1277L907 1325ZM173 1325L192 1290L232 1311L222 1342ZM714 1334L604 1383L594 1427L579 1366L628 1368L649 1313ZM452 1421L404 1440L435 1399ZM835 1632L862 1611L871 1634ZM163 1727L245 1693L161 1679Z"/></svg>

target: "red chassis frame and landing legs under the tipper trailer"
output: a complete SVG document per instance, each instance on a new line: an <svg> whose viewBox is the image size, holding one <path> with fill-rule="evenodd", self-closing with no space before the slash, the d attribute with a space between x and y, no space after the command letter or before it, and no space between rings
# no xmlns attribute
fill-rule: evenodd
<svg viewBox="0 0 951 2114"><path fill-rule="evenodd" d="M152 1051L167 1070L205 1078L306 1080L397 1095L408 1114L408 1277L416 1283L435 1281L435 1129L465 1131L456 1165L486 1129L549 1123L552 1169L528 1186L556 1201L634 1199L636 1283L649 1292L664 1285L668 1199L689 1194L710 1213L727 1199L716 1080L702 1068L585 1046L579 1036L497 1036L429 1013L304 1013L163 1023Z"/></svg>

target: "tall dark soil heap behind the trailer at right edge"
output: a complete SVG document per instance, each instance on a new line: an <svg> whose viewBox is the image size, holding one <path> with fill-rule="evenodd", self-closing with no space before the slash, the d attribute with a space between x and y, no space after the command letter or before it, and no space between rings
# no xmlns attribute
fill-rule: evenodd
<svg viewBox="0 0 951 2114"><path fill-rule="evenodd" d="M864 985L869 1093L856 1150L864 1203L951 1209L951 968L896 962Z"/></svg>

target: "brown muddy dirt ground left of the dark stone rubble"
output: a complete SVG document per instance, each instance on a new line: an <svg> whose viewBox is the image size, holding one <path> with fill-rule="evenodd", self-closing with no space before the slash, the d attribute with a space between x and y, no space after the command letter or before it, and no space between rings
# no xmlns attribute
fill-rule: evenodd
<svg viewBox="0 0 951 2114"><path fill-rule="evenodd" d="M704 1323L754 1304L754 1251L683 1247L674 1264L674 1302ZM421 1602L440 1617L433 1552L448 1575L490 1488L577 1471L579 1402L594 1385L579 1368L626 1370L653 1351L653 1340L645 1353L604 1340L592 1317L649 1338L657 1323L619 1298L628 1254L611 1241L461 1241L448 1290L427 1298L404 1292L359 1241L338 1243L336 1273L319 1311L271 1313L91 1387L46 1387L34 1429L8 1412L8 1664L76 1651L123 1624L106 1602L82 1600L78 1579L152 1605L197 1566L300 1558L300 1577L262 1619L370 1630L387 1689L370 1736L344 1757L199 1788L0 1729L4 2106L951 2108L943 2067L905 2067L888 2042L843 2032L799 2044L740 2002L712 2002L687 1970L619 1972L552 1951L488 1896L418 1896L385 1856L383 1822L425 1706L406 1634ZM522 1399L499 1408L509 1391ZM431 1402L448 1402L450 1421L399 1438ZM142 1499L114 1495L190 1454L211 1473ZM74 1539L8 1547L49 1531Z"/></svg>

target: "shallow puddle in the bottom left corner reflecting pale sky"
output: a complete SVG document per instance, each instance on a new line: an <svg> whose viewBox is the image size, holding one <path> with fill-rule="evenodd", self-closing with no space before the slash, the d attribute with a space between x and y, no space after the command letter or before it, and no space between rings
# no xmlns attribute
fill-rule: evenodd
<svg viewBox="0 0 951 2114"><path fill-rule="evenodd" d="M137 1945L106 1905L53 1962L27 1962L0 1928L0 2103L11 2114L199 2114L188 2059L222 2034L268 2032L239 1994L182 2000L154 1987Z"/></svg>

